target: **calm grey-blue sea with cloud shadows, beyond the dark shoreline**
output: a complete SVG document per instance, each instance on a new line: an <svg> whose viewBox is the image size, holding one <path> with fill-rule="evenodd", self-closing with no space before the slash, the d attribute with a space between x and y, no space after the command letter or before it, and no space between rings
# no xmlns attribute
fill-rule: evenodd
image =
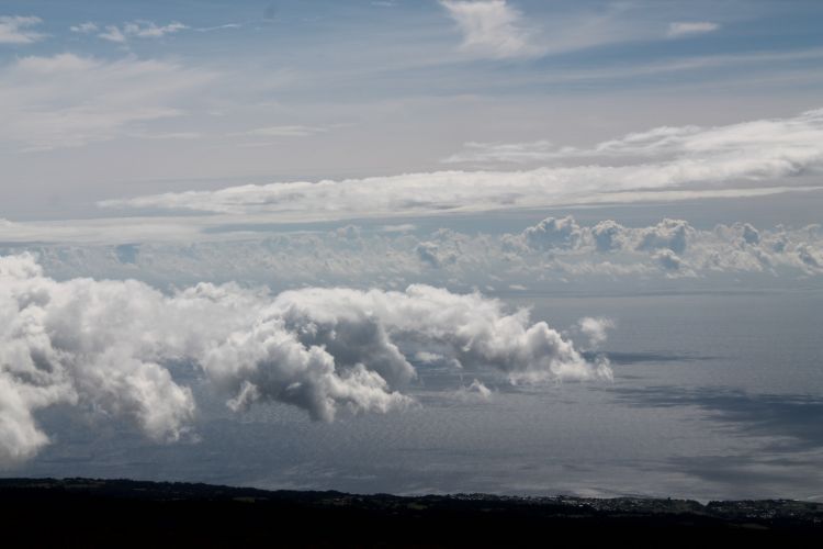
<svg viewBox="0 0 823 549"><path fill-rule="evenodd" d="M199 440L154 445L127 426L46 411L54 444L4 474L823 500L823 293L507 301L556 328L613 318L602 347L613 383L512 388L466 374L464 384L476 377L495 391L478 402L455 397L454 371L421 368L419 408L330 425L281 405L233 415L198 385Z"/></svg>

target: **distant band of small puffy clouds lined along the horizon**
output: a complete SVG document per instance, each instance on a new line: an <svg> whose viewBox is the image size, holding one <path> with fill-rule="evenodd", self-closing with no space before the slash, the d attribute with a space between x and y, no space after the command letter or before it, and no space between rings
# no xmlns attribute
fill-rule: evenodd
<svg viewBox="0 0 823 549"><path fill-rule="evenodd" d="M548 217L520 233L428 235L347 226L236 242L120 246L20 245L49 272L134 277L155 283L240 280L289 288L304 283L404 288L410 281L452 288L544 290L613 282L797 283L823 274L823 229L748 223L697 229L683 220L628 227ZM598 285L599 287L599 285Z"/></svg>

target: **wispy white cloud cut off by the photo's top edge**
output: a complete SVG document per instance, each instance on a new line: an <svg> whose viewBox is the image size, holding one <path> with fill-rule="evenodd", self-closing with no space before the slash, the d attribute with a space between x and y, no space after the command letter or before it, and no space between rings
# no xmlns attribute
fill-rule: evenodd
<svg viewBox="0 0 823 549"><path fill-rule="evenodd" d="M440 0L463 34L461 49L493 58L528 57L540 53L530 43L522 14L506 0Z"/></svg>

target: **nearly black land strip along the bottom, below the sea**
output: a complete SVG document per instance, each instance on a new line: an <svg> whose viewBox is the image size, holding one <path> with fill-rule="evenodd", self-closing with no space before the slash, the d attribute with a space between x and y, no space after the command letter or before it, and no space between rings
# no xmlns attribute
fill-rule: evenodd
<svg viewBox="0 0 823 549"><path fill-rule="evenodd" d="M401 497L92 479L0 480L4 547L550 546L823 535L823 504L485 494ZM7 545L7 544L12 545Z"/></svg>

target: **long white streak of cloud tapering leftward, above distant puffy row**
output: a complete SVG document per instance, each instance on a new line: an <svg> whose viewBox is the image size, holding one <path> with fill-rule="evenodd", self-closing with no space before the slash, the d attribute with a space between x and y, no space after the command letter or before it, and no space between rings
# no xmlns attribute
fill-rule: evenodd
<svg viewBox="0 0 823 549"><path fill-rule="evenodd" d="M591 149L563 147L553 155L556 159L585 160L576 166L544 166L521 171L451 170L342 181L248 184L216 191L109 200L100 205L232 215L267 213L278 214L283 221L322 221L642 198L668 200L676 199L678 192L685 193L680 198L759 193L764 189L747 187L820 169L823 165L823 110L791 119L711 128L663 127L604 142ZM595 157L601 160L593 160ZM698 189L687 190L690 186ZM681 190L668 190L672 188Z"/></svg>

